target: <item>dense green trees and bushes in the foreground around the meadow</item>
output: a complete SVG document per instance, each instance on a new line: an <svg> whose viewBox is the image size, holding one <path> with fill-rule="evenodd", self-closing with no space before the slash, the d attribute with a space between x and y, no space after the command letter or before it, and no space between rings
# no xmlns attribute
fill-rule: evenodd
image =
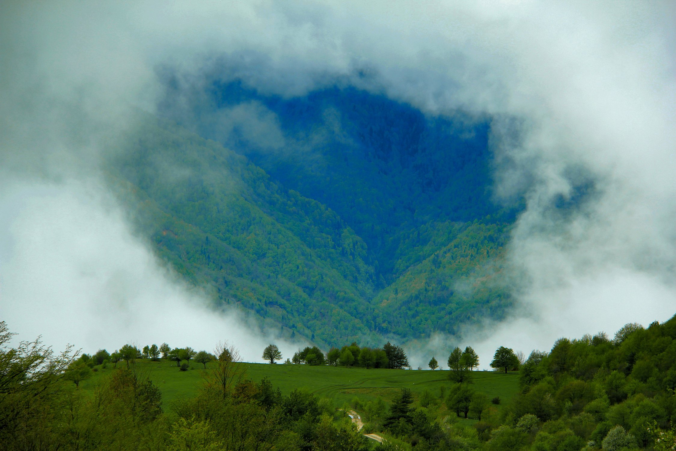
<svg viewBox="0 0 676 451"><path fill-rule="evenodd" d="M351 407L364 419L361 430L345 416L347 407L336 410L329 398L298 387L282 394L267 377L251 381L233 347L220 345L205 360L196 396L163 407L158 385L137 368L136 359L160 360L163 352L163 358L180 362L189 348L149 346L139 351L125 345L111 354L78 357L72 348L55 354L39 340L11 348L11 335L0 323L0 443L7 450L676 447L676 317L648 328L625 325L612 339L606 333L558 339L549 352L534 350L523 363L501 347L491 362L496 372L488 374L495 381L518 371L519 389L513 397L491 399L475 388L477 373L469 368L472 352L456 348L449 357L450 370L435 372L448 375L439 394L425 389L414 396L408 387L397 387L397 396L387 401L355 397ZM347 358L353 346L345 346L338 359ZM392 356L397 348L387 343L381 351ZM313 352L311 347L299 352L300 369L306 364L309 371L318 364L308 358ZM188 358L197 360L195 354ZM89 390L82 389L80 382L106 364L114 368ZM335 363L329 358L324 364ZM376 433L383 442L367 442L366 433Z"/></svg>

